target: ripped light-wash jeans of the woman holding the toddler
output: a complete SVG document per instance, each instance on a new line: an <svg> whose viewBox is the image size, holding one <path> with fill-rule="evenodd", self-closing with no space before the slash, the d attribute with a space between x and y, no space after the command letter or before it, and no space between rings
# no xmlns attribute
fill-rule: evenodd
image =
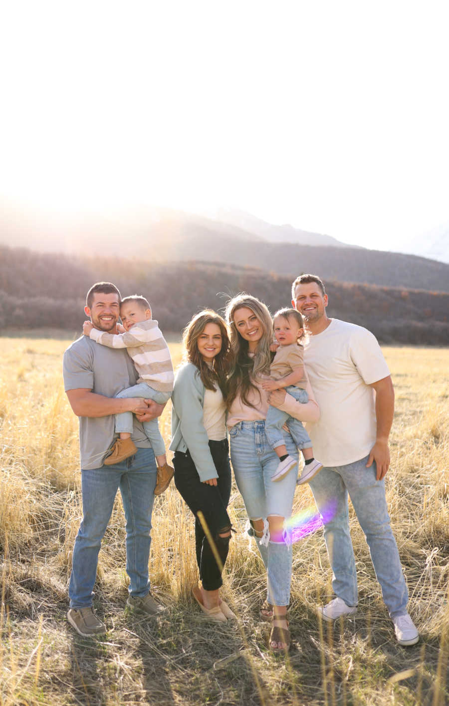
<svg viewBox="0 0 449 706"><path fill-rule="evenodd" d="M292 582L292 544L286 533L282 542L273 542L266 521L269 515L280 515L285 519L292 515L297 473L287 473L277 483L271 480L279 458L265 436L265 420L239 421L229 430L229 438L234 476L244 499L246 513L250 520L265 521L264 537L262 541L256 537L256 542L267 570L267 600L275 606L288 606ZM288 433L285 433L284 443L288 453L297 459L297 448ZM249 534L254 536L252 529Z"/></svg>

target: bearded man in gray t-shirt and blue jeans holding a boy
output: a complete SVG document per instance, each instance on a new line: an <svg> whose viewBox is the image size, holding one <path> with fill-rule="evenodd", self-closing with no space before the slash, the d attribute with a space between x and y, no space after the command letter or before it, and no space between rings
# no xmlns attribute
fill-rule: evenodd
<svg viewBox="0 0 449 706"><path fill-rule="evenodd" d="M110 282L90 288L85 313L95 328L116 333L120 292ZM87 336L78 338L64 353L64 388L73 412L80 419L81 492L83 521L75 540L68 594L68 622L83 637L102 634L106 627L92 610L92 589L98 552L120 489L126 517L126 573L130 580L126 604L155 615L162 606L150 594L151 513L157 477L155 457L140 421L158 417L163 405L137 398L115 399L135 385L136 369L125 349L102 346ZM132 439L137 453L125 461L104 466L114 441L114 414L133 412Z"/></svg>

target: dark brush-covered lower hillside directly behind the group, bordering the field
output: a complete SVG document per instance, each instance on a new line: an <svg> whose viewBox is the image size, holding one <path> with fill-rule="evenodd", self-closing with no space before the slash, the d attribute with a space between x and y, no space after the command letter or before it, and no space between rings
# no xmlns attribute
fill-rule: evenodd
<svg viewBox="0 0 449 706"><path fill-rule="evenodd" d="M0 324L75 333L85 318L85 294L100 280L114 282L123 296L144 294L161 327L174 332L196 311L206 306L223 309L227 299L241 291L263 299L275 311L289 304L292 285L292 277L253 267L75 258L2 247ZM327 279L325 285L330 316L365 325L383 342L449 345L449 294Z"/></svg>

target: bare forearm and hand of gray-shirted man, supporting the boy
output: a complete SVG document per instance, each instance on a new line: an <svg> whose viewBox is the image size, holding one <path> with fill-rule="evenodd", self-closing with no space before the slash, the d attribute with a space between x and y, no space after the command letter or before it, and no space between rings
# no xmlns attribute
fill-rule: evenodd
<svg viewBox="0 0 449 706"><path fill-rule="evenodd" d="M67 390L68 402L77 417L108 417L109 414L119 414L120 412L133 412L133 414L146 415L150 411L149 402L156 405L152 400L143 400L142 397L128 397L128 399L116 399L115 397L104 397L92 393L88 388L78 388L76 390ZM164 407L157 405L157 407ZM162 412L161 409L161 412ZM159 416L154 414L151 419Z"/></svg>

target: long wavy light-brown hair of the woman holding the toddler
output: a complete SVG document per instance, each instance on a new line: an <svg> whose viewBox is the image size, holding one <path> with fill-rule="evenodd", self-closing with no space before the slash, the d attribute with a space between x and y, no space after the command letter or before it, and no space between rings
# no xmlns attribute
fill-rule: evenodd
<svg viewBox="0 0 449 706"><path fill-rule="evenodd" d="M251 309L262 326L262 337L258 341L254 357L249 356L249 342L241 337L234 324L235 312L244 306L247 309ZM253 407L254 405L251 405L248 399L250 390L257 391L259 396L261 394L256 385L254 385L253 380L261 373L267 374L270 372L272 359L270 343L273 338L271 314L262 301L259 301L256 297L251 297L251 294L241 292L241 294L237 294L236 297L228 301L226 319L231 330L232 352L231 371L227 381L227 407L229 408L232 405L237 393L240 393L241 401L244 405Z"/></svg>

